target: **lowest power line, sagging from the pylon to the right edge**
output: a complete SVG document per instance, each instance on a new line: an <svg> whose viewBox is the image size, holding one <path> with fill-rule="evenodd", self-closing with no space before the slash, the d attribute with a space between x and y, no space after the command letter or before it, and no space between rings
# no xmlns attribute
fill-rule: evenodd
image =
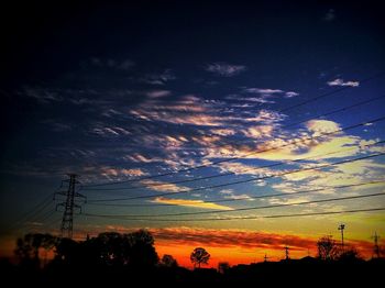
<svg viewBox="0 0 385 288"><path fill-rule="evenodd" d="M127 221L160 221L160 222L199 222L199 221L230 221L230 220L252 220L252 219L275 219L275 218L296 218L296 217L309 217L309 215L328 215L328 214L343 214L343 213L360 213L360 212L373 212L373 211L385 211L385 207L369 208L369 209L353 209L344 211L328 211L328 212L309 212L309 213L292 213L292 214L273 214L273 215L255 215L255 217L231 217L231 218L200 218L200 219L140 219L140 218L112 218L99 214L80 214L85 217L95 218L108 218Z"/></svg>

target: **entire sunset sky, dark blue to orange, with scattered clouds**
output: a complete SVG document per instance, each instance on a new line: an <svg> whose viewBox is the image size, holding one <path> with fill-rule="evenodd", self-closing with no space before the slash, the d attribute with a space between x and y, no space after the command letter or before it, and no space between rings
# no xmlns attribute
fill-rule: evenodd
<svg viewBox="0 0 385 288"><path fill-rule="evenodd" d="M1 255L28 232L59 233L67 174L87 197L75 239L145 228L186 267L197 246L213 267L278 261L285 245L316 256L341 223L366 258L385 239L380 3L3 11Z"/></svg>

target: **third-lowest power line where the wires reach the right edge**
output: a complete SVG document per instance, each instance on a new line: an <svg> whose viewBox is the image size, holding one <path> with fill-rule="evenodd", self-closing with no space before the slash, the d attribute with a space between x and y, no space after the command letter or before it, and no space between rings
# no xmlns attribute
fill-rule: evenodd
<svg viewBox="0 0 385 288"><path fill-rule="evenodd" d="M375 180L375 181L369 181L369 182L360 182L360 184L351 184L351 185L342 185L342 186L327 186L318 189L311 189L311 190L301 190L301 191L295 191L290 193L273 193L273 195L261 195L261 196L250 196L250 197L241 197L235 199L217 199L217 200L210 200L205 201L205 203L221 203L221 202L234 202L234 201L243 201L243 200L251 200L251 199L264 199L264 198L272 198L272 197L287 197L293 195L300 195L300 193L314 193L319 191L326 191L329 189L343 189L343 188L351 188L351 187L360 187L365 185L373 185L373 184L382 184L385 182L385 180ZM175 204L167 204L167 203L148 203L148 204L119 204L119 203L88 203L91 206L111 206L111 207L162 207L162 206L175 206Z"/></svg>

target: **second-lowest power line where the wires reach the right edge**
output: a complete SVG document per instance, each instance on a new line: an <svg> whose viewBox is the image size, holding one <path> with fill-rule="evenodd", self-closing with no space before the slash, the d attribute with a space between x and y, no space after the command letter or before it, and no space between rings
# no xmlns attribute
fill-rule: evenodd
<svg viewBox="0 0 385 288"><path fill-rule="evenodd" d="M233 210L213 210L213 211L200 211L200 212L183 212L183 213L163 213L163 214L114 214L103 217L120 217L120 218L152 218L152 217L180 217L180 215L199 215L199 214L218 214L218 213L232 213L239 211L250 211L250 210L260 210L260 209L272 209L272 208L280 208L280 207L292 207L292 206L301 206L301 204L312 204L312 203L323 203L323 202L332 202L332 201L342 201L342 200L351 200L351 199L362 199L370 197L385 196L385 192L378 193L370 193L370 195L359 195L359 196L348 196L348 197L339 197L339 198L328 198L312 201L302 201L296 203L282 203L282 204L270 204L270 206L258 206L258 207L248 207L248 208L237 208ZM85 213L89 215L88 213Z"/></svg>

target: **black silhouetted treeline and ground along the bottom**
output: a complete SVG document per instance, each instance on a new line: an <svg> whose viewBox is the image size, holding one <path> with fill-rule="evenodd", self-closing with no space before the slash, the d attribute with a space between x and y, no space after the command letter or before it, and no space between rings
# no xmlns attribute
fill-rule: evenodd
<svg viewBox="0 0 385 288"><path fill-rule="evenodd" d="M202 247L191 252L196 269L179 267L172 255L156 253L154 237L146 230L121 234L100 233L85 241L56 237L51 234L26 234L16 241L16 265L2 259L3 280L14 285L132 286L145 284L191 285L209 283L228 284L278 284L306 285L308 280L327 284L331 279L344 283L367 284L381 276L383 258L362 259L352 247L341 250L330 236L318 243L317 258L284 259L250 265L230 266L220 263L218 269L204 269L210 254ZM341 275L344 275L341 278Z"/></svg>

